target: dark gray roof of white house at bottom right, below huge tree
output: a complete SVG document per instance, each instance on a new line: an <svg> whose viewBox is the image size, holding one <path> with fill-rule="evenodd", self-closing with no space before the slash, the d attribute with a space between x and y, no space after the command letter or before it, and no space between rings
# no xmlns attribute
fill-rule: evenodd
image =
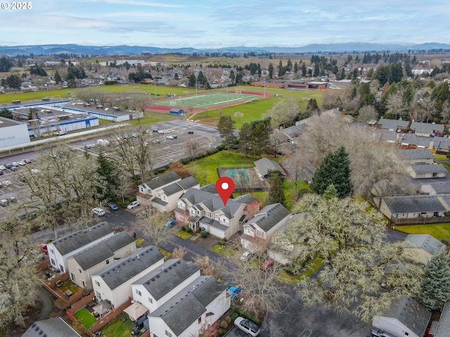
<svg viewBox="0 0 450 337"><path fill-rule="evenodd" d="M427 329L431 312L411 297L403 296L394 300L384 317L399 319L401 323L411 329L417 336L423 336Z"/></svg>

